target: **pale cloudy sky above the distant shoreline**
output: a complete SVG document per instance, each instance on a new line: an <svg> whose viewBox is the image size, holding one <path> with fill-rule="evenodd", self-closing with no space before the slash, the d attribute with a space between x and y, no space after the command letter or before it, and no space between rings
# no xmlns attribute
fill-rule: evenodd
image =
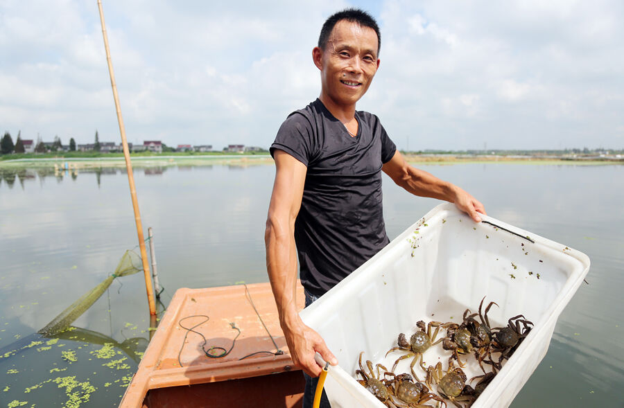
<svg viewBox="0 0 624 408"><path fill-rule="evenodd" d="M346 7L381 28L357 109L403 150L624 148L624 2L103 0L128 141L268 148ZM0 0L0 131L119 143L96 0Z"/></svg>

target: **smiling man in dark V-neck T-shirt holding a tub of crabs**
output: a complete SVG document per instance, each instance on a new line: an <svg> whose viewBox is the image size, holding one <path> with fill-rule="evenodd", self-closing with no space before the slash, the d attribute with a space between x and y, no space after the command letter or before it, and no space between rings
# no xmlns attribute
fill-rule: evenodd
<svg viewBox="0 0 624 408"><path fill-rule="evenodd" d="M297 253L309 305L388 244L381 170L410 193L453 202L475 222L483 205L461 188L404 161L379 118L356 112L379 68L381 35L366 12L329 17L312 58L320 96L281 125L270 151L276 175L266 222L266 262L279 322L293 361L318 377L315 352L338 364L295 304ZM295 249L296 245L296 249ZM306 377L304 407L314 385Z"/></svg>

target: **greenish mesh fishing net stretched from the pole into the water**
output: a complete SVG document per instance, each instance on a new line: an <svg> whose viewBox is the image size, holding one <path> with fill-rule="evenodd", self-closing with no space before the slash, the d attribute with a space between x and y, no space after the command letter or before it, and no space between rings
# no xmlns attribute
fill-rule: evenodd
<svg viewBox="0 0 624 408"><path fill-rule="evenodd" d="M114 278L136 274L142 270L143 265L141 263L141 257L135 252L125 251L125 254L123 254L121 260L119 260L119 265L117 265L115 272L112 275L108 276L102 283L94 287L92 290L89 290L89 292L83 294L80 299L73 302L69 308L63 310L57 317L55 317L50 323L46 324L46 326L38 332L46 336L53 336L62 332L68 328L73 321L86 312L96 300L100 299L100 296L102 296L102 294L108 289L112 281L114 281Z"/></svg>

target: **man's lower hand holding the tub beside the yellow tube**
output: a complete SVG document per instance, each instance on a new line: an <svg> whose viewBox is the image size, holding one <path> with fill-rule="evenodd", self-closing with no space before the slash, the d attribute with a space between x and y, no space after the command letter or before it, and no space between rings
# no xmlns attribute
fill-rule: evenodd
<svg viewBox="0 0 624 408"><path fill-rule="evenodd" d="M322 371L322 368L314 360L316 352L332 366L338 364L338 359L329 351L318 332L306 326L301 319L291 329L282 328L293 362L300 366L307 375L318 377Z"/></svg>

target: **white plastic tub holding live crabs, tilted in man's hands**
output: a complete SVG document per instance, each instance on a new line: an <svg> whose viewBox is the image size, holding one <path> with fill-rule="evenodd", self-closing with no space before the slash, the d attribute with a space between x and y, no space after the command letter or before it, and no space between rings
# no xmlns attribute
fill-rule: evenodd
<svg viewBox="0 0 624 408"><path fill-rule="evenodd" d="M364 351L363 364L371 360L391 369L402 353L385 353L397 346L399 333L409 339L419 320L460 323L467 308L478 310L483 296L484 309L490 301L499 305L489 310L492 327L506 326L518 314L535 324L472 407L510 405L546 355L557 317L587 275L589 258L505 222L482 218L484 222L475 223L453 204L436 206L301 312L338 358L325 382L332 407L383 407L355 380L359 353ZM442 336L444 330L438 338ZM450 355L438 344L424 353L424 362L442 362L446 370ZM468 378L483 373L474 356L462 357L467 359ZM395 372L409 373L411 360L403 360ZM418 365L415 370L423 380L424 371Z"/></svg>

